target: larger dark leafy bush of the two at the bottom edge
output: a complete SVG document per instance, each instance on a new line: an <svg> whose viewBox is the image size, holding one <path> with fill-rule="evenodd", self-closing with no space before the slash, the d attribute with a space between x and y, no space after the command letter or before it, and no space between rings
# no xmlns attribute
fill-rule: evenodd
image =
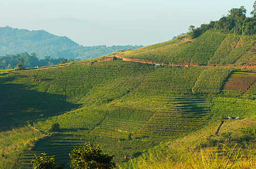
<svg viewBox="0 0 256 169"><path fill-rule="evenodd" d="M74 149L69 153L71 168L113 168L116 163L111 162L114 155L102 154L100 145L85 143L84 148Z"/></svg>

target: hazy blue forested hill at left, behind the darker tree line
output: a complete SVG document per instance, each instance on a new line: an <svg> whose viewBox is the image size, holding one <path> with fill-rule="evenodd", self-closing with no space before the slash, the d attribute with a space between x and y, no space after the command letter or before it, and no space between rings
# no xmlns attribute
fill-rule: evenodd
<svg viewBox="0 0 256 169"><path fill-rule="evenodd" d="M45 30L26 30L0 27L0 56L16 55L24 52L36 53L42 59L50 56L90 59L111 54L114 51L135 49L140 46L81 46L67 37L50 34Z"/></svg>

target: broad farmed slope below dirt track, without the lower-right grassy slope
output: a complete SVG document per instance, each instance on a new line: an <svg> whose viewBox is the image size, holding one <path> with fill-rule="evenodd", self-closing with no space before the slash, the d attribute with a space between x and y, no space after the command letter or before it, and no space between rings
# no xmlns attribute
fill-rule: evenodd
<svg viewBox="0 0 256 169"><path fill-rule="evenodd" d="M1 73L1 165L29 168L42 152L67 164L71 150L90 141L130 166L124 155L135 160L222 116L250 119L255 74L121 60ZM233 83L236 77L251 80ZM49 132L54 123L61 129Z"/></svg>

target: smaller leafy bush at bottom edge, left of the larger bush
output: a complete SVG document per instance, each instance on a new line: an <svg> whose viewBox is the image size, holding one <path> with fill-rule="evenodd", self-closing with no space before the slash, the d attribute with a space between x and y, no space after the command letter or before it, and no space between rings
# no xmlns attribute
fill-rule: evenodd
<svg viewBox="0 0 256 169"><path fill-rule="evenodd" d="M55 158L54 156L47 156L45 153L41 155L35 155L32 159L31 164L33 164L33 169L51 169L54 168Z"/></svg>

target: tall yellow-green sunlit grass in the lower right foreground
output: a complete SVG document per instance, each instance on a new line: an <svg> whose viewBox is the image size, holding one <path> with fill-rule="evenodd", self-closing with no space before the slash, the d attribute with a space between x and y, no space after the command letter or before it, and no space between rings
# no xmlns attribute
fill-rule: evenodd
<svg viewBox="0 0 256 169"><path fill-rule="evenodd" d="M250 149L251 148L251 149ZM242 151L236 145L230 148L224 145L223 150L217 147L200 149L197 152L176 153L180 158L170 160L174 155L159 158L139 158L131 168L253 168L255 166L255 147ZM221 153L220 153L221 151ZM121 167L125 168L125 167Z"/></svg>

